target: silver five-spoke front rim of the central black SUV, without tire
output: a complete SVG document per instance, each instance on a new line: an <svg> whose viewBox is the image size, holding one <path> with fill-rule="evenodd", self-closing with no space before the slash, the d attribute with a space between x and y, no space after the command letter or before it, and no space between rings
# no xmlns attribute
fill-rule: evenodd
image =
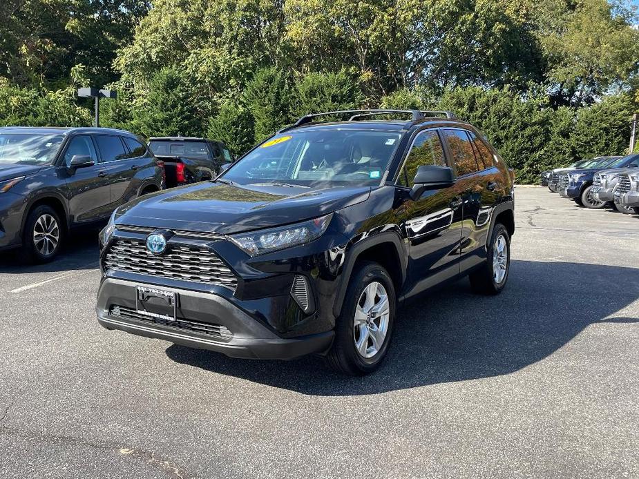
<svg viewBox="0 0 639 479"><path fill-rule="evenodd" d="M390 304L388 293L380 282L372 282L362 291L355 309L353 338L362 358L370 359L384 344L388 333Z"/></svg>

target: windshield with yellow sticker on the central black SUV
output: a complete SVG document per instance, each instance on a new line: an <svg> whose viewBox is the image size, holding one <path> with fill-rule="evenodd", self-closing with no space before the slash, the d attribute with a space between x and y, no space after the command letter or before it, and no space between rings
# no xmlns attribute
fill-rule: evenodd
<svg viewBox="0 0 639 479"><path fill-rule="evenodd" d="M238 184L379 184L401 133L319 127L276 135L222 176Z"/></svg>

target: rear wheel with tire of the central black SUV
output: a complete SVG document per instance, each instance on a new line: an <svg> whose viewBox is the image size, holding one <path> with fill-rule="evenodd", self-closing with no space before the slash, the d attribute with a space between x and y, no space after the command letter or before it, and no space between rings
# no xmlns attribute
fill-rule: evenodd
<svg viewBox="0 0 639 479"><path fill-rule="evenodd" d="M486 263L468 275L470 286L475 293L496 295L501 293L511 268L511 237L506 226L495 224L488 245Z"/></svg>

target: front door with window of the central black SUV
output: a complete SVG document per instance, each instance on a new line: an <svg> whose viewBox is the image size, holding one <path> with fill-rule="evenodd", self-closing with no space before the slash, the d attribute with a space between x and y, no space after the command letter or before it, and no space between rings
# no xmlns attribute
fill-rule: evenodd
<svg viewBox="0 0 639 479"><path fill-rule="evenodd" d="M397 179L399 194L405 198L399 208L409 242L407 295L459 274L461 195L455 185L410 199L417 168L423 165L448 166L437 129L422 130L414 137Z"/></svg>

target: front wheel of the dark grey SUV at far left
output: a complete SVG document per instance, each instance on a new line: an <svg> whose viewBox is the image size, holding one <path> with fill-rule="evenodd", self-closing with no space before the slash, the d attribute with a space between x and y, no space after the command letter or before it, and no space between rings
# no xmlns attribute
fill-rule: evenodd
<svg viewBox="0 0 639 479"><path fill-rule="evenodd" d="M28 262L46 263L57 256L64 232L56 211L41 205L27 217L22 237L22 255Z"/></svg>

